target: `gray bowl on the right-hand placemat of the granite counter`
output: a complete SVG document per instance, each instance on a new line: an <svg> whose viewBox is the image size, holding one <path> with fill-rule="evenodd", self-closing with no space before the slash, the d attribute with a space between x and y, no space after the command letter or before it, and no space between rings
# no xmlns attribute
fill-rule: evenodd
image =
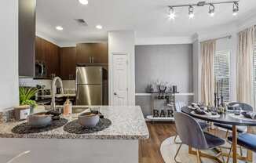
<svg viewBox="0 0 256 163"><path fill-rule="evenodd" d="M79 114L79 124L85 127L93 128L100 121L98 114L82 113Z"/></svg>

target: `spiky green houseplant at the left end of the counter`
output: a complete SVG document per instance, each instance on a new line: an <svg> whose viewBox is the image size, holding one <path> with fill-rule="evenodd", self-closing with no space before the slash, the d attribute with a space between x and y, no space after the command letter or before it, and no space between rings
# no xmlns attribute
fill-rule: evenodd
<svg viewBox="0 0 256 163"><path fill-rule="evenodd" d="M35 93L38 92L38 89L20 86L19 92L20 105L29 105L31 108L37 107L37 103L35 100L31 100L31 98L35 96Z"/></svg>

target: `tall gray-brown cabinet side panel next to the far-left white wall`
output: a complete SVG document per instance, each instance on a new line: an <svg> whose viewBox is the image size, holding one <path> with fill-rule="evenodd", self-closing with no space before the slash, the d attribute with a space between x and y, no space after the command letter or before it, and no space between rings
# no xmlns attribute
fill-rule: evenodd
<svg viewBox="0 0 256 163"><path fill-rule="evenodd" d="M19 75L35 75L35 0L19 0Z"/></svg>

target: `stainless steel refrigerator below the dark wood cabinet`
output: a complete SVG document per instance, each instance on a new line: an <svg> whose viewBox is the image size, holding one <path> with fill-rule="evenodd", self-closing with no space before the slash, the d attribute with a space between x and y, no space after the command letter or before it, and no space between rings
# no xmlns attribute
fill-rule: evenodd
<svg viewBox="0 0 256 163"><path fill-rule="evenodd" d="M76 67L76 105L106 104L104 74L102 67Z"/></svg>

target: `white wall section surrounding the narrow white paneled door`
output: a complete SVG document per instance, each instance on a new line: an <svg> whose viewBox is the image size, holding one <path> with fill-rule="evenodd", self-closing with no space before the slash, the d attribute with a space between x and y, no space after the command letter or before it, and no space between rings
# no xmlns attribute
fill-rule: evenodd
<svg viewBox="0 0 256 163"><path fill-rule="evenodd" d="M135 68L134 68L134 31L109 31L108 32L108 67L109 67L109 104L112 105L113 81L112 81L112 54L129 54L129 104L135 105Z"/></svg>

